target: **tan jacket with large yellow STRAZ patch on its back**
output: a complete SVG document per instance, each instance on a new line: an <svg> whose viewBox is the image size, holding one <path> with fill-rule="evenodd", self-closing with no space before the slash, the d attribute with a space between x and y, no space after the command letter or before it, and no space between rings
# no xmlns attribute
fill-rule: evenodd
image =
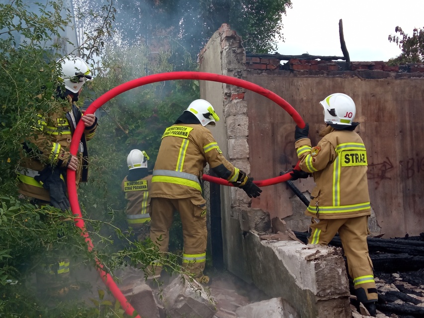
<svg viewBox="0 0 424 318"><path fill-rule="evenodd" d="M302 170L312 172L316 183L306 215L342 219L371 214L367 181L367 154L354 131L327 126L316 147L303 138L295 143Z"/></svg>

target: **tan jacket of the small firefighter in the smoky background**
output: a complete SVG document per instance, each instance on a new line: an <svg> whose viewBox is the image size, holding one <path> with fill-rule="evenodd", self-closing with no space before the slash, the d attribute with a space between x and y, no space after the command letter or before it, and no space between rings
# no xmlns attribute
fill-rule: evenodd
<svg viewBox="0 0 424 318"><path fill-rule="evenodd" d="M128 181L125 177L122 181L122 191L124 191L125 199L127 199L127 221L133 228L150 221L149 190L151 184L151 175L136 181Z"/></svg>

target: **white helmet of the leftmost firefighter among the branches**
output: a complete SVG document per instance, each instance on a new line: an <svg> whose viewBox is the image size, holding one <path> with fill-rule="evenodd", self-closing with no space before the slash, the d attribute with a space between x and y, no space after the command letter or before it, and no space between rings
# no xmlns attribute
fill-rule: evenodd
<svg viewBox="0 0 424 318"><path fill-rule="evenodd" d="M65 56L58 61L61 65L61 76L65 87L73 93L78 93L87 80L91 79L88 64L78 56Z"/></svg>

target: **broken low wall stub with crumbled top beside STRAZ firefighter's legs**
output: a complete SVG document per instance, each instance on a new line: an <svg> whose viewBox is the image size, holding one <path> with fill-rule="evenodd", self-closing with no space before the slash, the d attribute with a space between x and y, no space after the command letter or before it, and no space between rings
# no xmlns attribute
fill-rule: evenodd
<svg viewBox="0 0 424 318"><path fill-rule="evenodd" d="M286 299L302 318L351 318L339 248L261 240L253 231L243 245L249 278L267 295Z"/></svg>

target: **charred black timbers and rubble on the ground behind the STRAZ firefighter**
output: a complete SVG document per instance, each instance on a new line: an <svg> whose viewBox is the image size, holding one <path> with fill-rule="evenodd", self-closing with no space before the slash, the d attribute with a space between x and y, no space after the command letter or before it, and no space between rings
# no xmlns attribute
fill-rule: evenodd
<svg viewBox="0 0 424 318"><path fill-rule="evenodd" d="M307 232L294 233L307 243ZM391 318L423 318L424 233L367 241L378 289L377 310ZM329 245L341 247L340 238L336 236Z"/></svg>

